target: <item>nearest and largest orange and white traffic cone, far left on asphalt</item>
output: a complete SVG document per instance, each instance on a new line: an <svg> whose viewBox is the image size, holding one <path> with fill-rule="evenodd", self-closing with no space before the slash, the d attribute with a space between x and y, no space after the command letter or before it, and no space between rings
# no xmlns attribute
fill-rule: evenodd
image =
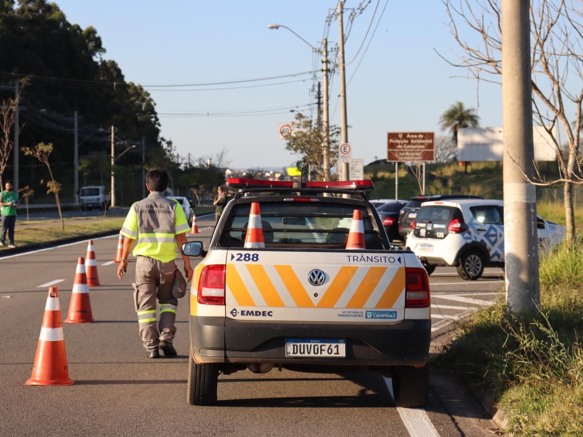
<svg viewBox="0 0 583 437"><path fill-rule="evenodd" d="M57 287L48 288L33 374L24 385L73 385L69 378Z"/></svg>

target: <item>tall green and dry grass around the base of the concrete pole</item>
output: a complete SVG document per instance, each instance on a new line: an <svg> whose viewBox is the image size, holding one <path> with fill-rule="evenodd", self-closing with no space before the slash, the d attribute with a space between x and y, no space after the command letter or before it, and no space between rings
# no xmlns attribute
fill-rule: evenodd
<svg viewBox="0 0 583 437"><path fill-rule="evenodd" d="M583 247L540 259L540 311L496 305L459 325L437 363L496 389L517 436L583 435Z"/></svg>

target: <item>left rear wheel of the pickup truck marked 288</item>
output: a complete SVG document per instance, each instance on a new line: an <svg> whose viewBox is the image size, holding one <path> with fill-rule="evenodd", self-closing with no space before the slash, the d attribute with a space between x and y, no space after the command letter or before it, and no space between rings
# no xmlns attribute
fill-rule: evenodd
<svg viewBox="0 0 583 437"><path fill-rule="evenodd" d="M217 401L219 369L215 363L196 364L192 348L188 357L186 399L191 405L213 405Z"/></svg>

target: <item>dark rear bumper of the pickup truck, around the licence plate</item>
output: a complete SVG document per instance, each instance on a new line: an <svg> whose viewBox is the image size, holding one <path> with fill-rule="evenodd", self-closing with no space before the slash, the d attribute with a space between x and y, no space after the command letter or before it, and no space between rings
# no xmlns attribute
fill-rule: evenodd
<svg viewBox="0 0 583 437"><path fill-rule="evenodd" d="M273 323L191 316L190 329L199 364L423 366L429 358L431 320ZM346 339L346 358L288 358L286 337Z"/></svg>

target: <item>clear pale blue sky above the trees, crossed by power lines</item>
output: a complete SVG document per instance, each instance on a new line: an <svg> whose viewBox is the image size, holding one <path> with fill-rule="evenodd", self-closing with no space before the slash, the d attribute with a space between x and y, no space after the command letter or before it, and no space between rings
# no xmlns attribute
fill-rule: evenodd
<svg viewBox="0 0 583 437"><path fill-rule="evenodd" d="M118 62L126 80L142 84L311 71L311 48L288 30L269 30L267 24L285 24L318 46L328 9L336 6L334 0L57 3L69 22L96 27L107 49L105 57ZM345 7L358 3L347 0ZM354 20L346 43L346 61L354 57L363 41L376 3L373 0ZM381 0L377 17L384 5L385 0ZM389 131L439 133L440 115L457 100L477 107L476 82L451 77L463 76L465 70L448 66L434 51L451 55L456 49L443 22L447 16L439 1L388 1L370 48L347 87L353 157L364 158L365 163L375 156L385 157ZM338 41L337 21L332 24L329 41ZM347 78L353 75L362 52L347 66ZM160 117L162 135L173 140L181 155L199 157L224 148L229 150L232 167L283 166L293 163L294 156L278 139L277 124L293 119L289 108L310 103L312 81L309 75L303 78L307 80L239 90L151 92L160 113L285 108L283 114L254 117ZM340 124L340 108L335 111L338 79L335 75L331 90L332 124ZM481 124L501 125L500 87L481 82L479 98Z"/></svg>

